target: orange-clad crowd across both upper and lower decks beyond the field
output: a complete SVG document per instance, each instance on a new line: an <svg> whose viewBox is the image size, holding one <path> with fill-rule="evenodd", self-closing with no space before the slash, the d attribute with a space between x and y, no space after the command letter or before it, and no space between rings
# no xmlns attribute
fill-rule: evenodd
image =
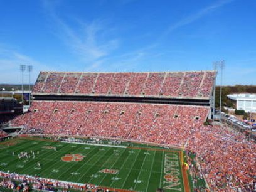
<svg viewBox="0 0 256 192"><path fill-rule="evenodd" d="M119 95L210 100L216 73L41 72L34 95ZM97 136L182 147L196 154L211 189L255 188L256 146L219 125L203 125L210 106L36 100L12 124L23 134ZM231 191L231 190L230 190Z"/></svg>

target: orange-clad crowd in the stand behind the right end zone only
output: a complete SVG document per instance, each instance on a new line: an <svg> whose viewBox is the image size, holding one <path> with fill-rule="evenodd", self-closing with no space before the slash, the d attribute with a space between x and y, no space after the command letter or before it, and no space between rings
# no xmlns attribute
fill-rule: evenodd
<svg viewBox="0 0 256 192"><path fill-rule="evenodd" d="M211 189L256 189L256 144L223 126L203 126L189 137ZM239 186L239 187L238 187Z"/></svg>

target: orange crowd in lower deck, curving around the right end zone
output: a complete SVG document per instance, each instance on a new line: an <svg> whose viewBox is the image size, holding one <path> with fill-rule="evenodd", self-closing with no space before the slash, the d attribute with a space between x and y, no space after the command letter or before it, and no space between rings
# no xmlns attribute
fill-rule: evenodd
<svg viewBox="0 0 256 192"><path fill-rule="evenodd" d="M203 126L208 107L36 101L30 110L21 124L14 120L26 127L24 134L102 136L180 147L188 143L212 189L255 182L255 144L227 127Z"/></svg>

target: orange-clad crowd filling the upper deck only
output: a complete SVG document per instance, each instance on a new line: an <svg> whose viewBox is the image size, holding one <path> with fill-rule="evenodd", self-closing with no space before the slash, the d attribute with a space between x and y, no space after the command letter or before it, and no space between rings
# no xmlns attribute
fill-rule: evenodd
<svg viewBox="0 0 256 192"><path fill-rule="evenodd" d="M41 72L33 93L210 97L215 72Z"/></svg>

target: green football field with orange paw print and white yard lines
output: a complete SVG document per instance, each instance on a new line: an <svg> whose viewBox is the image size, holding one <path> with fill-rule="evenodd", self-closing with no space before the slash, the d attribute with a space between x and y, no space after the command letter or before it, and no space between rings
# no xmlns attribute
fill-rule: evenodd
<svg viewBox="0 0 256 192"><path fill-rule="evenodd" d="M51 147L56 150L47 149ZM35 159L18 158L19 152L31 150ZM0 170L131 191L190 191L179 153L156 147L109 147L21 137L0 142Z"/></svg>

